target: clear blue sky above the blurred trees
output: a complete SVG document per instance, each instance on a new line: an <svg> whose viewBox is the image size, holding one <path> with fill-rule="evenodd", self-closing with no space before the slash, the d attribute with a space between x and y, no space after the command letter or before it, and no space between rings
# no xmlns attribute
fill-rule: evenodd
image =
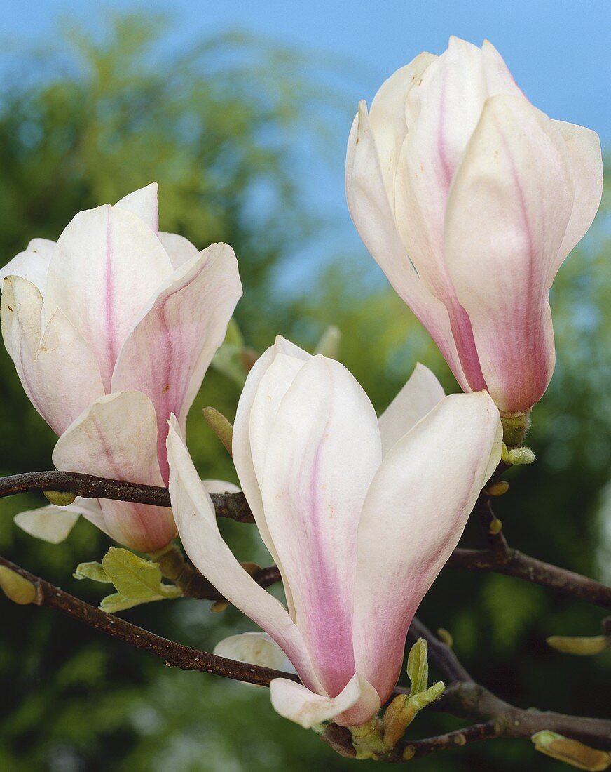
<svg viewBox="0 0 611 772"><path fill-rule="evenodd" d="M48 39L62 12L95 23L94 5L100 7L90 0L0 0L0 34L13 44ZM488 38L537 107L591 127L603 144L611 143L609 0L111 0L104 7L172 12L176 46L238 27L302 49L347 56L357 63L345 84L354 107L361 97L371 101L384 77L421 50L445 49L448 36L476 43ZM308 266L324 254L358 245L343 194L343 145L350 120L350 114L338 119L338 150L331 164L313 164L302 182L312 205L331 212L334 221L307 258L294 256Z"/></svg>

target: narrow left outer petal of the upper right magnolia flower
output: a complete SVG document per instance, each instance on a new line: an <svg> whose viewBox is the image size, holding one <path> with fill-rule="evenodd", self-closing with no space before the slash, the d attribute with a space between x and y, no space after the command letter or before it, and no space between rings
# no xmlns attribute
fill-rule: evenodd
<svg viewBox="0 0 611 772"><path fill-rule="evenodd" d="M448 311L418 278L399 237L364 102L354 118L348 139L346 197L352 222L371 256L394 291L431 334L463 390L470 391L452 337Z"/></svg>

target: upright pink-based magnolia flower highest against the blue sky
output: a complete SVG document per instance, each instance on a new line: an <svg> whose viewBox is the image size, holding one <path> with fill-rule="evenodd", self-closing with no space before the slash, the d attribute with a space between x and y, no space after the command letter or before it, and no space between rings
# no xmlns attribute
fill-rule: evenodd
<svg viewBox="0 0 611 772"><path fill-rule="evenodd" d="M451 38L392 75L347 147L346 194L371 255L463 391L528 411L555 364L549 287L602 193L597 135L551 120L499 52Z"/></svg>

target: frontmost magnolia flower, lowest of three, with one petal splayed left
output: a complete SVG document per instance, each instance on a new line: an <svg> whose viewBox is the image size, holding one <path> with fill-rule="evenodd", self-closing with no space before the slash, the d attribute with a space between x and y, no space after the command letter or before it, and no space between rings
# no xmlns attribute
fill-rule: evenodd
<svg viewBox="0 0 611 772"><path fill-rule="evenodd" d="M176 421L168 435L183 545L267 633L232 637L217 653L277 667L284 652L302 683L275 679L271 700L303 726L369 720L398 679L418 604L499 462L501 433L485 391L444 397L424 367L378 422L345 367L278 338L248 375L233 461L287 609L220 537Z"/></svg>

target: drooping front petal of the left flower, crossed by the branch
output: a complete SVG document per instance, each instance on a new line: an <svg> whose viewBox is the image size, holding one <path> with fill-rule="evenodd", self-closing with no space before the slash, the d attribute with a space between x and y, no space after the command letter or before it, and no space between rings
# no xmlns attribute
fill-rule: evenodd
<svg viewBox="0 0 611 772"><path fill-rule="evenodd" d="M157 462L153 404L139 391L96 400L59 438L53 451L57 469L110 479L163 486ZM112 539L140 552L165 547L176 534L168 507L103 499L96 523Z"/></svg>

